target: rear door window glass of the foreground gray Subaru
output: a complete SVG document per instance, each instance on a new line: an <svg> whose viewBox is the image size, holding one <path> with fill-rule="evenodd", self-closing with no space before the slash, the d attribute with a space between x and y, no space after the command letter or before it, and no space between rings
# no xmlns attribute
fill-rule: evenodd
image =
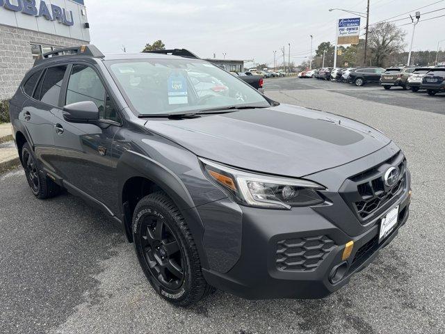
<svg viewBox="0 0 445 334"><path fill-rule="evenodd" d="M57 106L60 88L62 87L66 70L66 65L49 67L44 74L40 92L36 91L35 98L52 106Z"/></svg>

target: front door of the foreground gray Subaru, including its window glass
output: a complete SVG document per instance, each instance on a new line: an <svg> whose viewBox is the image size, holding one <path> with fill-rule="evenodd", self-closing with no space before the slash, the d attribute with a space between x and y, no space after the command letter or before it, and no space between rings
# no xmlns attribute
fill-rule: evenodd
<svg viewBox="0 0 445 334"><path fill-rule="evenodd" d="M58 132L54 132L60 177L105 205L115 200L117 159L112 156L115 133L122 124L120 114L94 65L74 63L68 68L63 88L63 105L92 101L102 122L96 124L67 122L63 111L56 113Z"/></svg>

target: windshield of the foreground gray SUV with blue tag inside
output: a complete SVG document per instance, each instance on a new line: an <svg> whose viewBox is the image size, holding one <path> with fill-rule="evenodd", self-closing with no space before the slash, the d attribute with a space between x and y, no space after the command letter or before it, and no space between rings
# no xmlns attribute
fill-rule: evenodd
<svg viewBox="0 0 445 334"><path fill-rule="evenodd" d="M270 106L257 90L204 61L138 59L106 65L127 103L140 115Z"/></svg>

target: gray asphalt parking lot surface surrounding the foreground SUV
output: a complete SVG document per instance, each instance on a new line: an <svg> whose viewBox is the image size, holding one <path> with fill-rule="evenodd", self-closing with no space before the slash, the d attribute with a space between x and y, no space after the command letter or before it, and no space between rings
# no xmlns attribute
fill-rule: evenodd
<svg viewBox="0 0 445 334"><path fill-rule="evenodd" d="M17 169L0 175L0 333L445 333L445 116L298 80L266 80L266 95L369 123L403 148L412 172L407 224L349 285L322 300L215 292L173 307L118 225L66 193L35 199Z"/></svg>

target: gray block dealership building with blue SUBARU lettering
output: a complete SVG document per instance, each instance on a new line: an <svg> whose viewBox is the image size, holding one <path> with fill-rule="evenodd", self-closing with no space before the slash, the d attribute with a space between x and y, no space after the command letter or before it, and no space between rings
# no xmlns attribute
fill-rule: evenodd
<svg viewBox="0 0 445 334"><path fill-rule="evenodd" d="M90 42L83 0L0 0L0 100L40 54Z"/></svg>

